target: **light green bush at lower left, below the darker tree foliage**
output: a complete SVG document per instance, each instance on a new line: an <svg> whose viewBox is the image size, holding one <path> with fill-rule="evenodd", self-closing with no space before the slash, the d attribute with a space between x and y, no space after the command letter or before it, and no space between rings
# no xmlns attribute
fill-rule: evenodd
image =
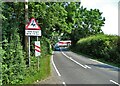
<svg viewBox="0 0 120 86"><path fill-rule="evenodd" d="M10 41L4 41L2 56L2 84L16 84L24 79L25 61L20 37L17 30L10 36Z"/></svg>

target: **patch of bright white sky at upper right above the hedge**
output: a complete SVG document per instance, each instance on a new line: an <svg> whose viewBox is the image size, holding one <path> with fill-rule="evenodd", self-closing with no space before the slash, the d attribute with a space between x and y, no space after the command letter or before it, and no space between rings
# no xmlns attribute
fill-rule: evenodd
<svg viewBox="0 0 120 86"><path fill-rule="evenodd" d="M118 35L118 2L120 0L81 0L83 7L87 9L99 9L105 17L105 25L102 30L105 34Z"/></svg>

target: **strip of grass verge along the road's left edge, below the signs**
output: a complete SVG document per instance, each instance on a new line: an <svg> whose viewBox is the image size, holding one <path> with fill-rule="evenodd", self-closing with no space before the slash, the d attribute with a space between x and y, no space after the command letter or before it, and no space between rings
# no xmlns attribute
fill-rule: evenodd
<svg viewBox="0 0 120 86"><path fill-rule="evenodd" d="M26 78L23 80L23 82L21 84L33 84L37 80L40 81L40 80L48 77L50 75L50 71L51 71L50 57L51 57L51 55L46 55L46 56L40 58L39 70L37 68L37 58L36 58L36 61L34 61L34 63L36 62L36 64L34 65L34 67L32 66L31 68L26 70L26 72L27 72Z"/></svg>

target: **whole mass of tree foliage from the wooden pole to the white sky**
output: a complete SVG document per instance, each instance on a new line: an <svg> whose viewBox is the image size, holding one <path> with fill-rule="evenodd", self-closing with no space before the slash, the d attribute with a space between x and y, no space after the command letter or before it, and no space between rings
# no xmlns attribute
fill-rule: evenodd
<svg viewBox="0 0 120 86"><path fill-rule="evenodd" d="M58 39L70 39L76 43L79 38L103 33L101 27L105 18L99 9L87 10L80 2L29 3L29 19L35 17L42 29L42 35L54 44Z"/></svg>

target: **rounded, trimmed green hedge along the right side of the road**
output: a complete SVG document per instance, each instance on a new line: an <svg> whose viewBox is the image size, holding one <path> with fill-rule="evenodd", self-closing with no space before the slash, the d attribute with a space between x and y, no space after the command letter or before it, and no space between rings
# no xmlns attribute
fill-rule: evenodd
<svg viewBox="0 0 120 86"><path fill-rule="evenodd" d="M115 64L120 63L120 37L112 35L94 35L80 39L75 51L103 59Z"/></svg>

